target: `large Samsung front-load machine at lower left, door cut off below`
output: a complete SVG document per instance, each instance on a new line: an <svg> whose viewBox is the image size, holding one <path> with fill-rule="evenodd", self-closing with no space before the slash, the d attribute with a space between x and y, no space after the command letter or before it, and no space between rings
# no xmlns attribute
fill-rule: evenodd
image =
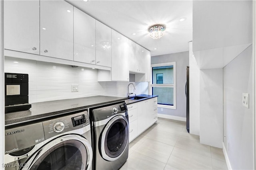
<svg viewBox="0 0 256 170"><path fill-rule="evenodd" d="M6 170L91 170L87 109L5 129Z"/></svg>

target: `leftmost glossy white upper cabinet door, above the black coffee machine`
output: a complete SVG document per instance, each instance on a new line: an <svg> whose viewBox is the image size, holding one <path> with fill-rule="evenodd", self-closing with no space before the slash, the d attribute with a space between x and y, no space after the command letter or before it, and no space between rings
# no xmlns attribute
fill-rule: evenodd
<svg viewBox="0 0 256 170"><path fill-rule="evenodd" d="M39 0L4 1L4 48L39 55Z"/></svg>

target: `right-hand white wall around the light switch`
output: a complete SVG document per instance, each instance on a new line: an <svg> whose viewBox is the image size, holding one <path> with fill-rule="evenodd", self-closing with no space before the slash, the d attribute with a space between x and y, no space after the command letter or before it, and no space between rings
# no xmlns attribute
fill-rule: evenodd
<svg viewBox="0 0 256 170"><path fill-rule="evenodd" d="M252 45L223 68L224 147L232 169L254 169ZM249 93L249 108L242 106Z"/></svg>

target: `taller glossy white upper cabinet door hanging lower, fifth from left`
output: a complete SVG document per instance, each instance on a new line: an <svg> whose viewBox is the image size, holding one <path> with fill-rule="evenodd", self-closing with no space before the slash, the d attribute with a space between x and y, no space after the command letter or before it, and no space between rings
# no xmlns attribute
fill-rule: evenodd
<svg viewBox="0 0 256 170"><path fill-rule="evenodd" d="M129 81L129 52L128 38L112 29L112 81Z"/></svg>

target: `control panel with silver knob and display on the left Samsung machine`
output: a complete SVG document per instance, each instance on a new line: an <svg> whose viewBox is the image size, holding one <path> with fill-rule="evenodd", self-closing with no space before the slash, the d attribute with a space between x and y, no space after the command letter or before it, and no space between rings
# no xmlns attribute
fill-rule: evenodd
<svg viewBox="0 0 256 170"><path fill-rule="evenodd" d="M58 134L68 131L81 129L87 125L90 126L88 111L74 113L72 115L55 117L43 121L45 139L49 139Z"/></svg>

